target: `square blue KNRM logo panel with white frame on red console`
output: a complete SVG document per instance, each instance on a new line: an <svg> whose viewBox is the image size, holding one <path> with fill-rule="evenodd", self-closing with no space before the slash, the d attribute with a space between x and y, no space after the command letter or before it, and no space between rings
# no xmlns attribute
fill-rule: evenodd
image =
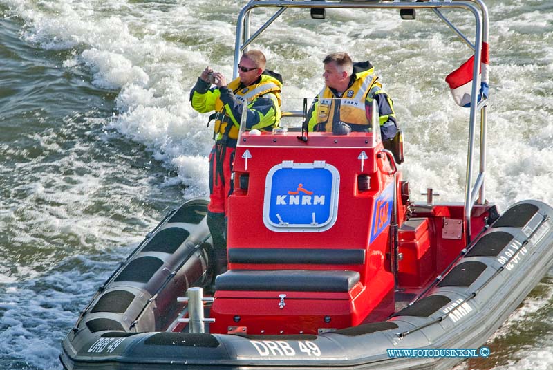
<svg viewBox="0 0 553 370"><path fill-rule="evenodd" d="M328 167L273 167L265 183L265 225L275 231L301 231L297 228L320 229L335 221L338 176L334 167Z"/></svg>

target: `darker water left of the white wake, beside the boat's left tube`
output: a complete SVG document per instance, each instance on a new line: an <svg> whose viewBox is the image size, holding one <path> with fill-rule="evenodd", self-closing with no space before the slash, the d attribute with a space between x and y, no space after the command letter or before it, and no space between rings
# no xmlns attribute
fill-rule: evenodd
<svg viewBox="0 0 553 370"><path fill-rule="evenodd" d="M60 369L59 341L170 207L171 171L106 129L115 91L0 20L0 368Z"/></svg>

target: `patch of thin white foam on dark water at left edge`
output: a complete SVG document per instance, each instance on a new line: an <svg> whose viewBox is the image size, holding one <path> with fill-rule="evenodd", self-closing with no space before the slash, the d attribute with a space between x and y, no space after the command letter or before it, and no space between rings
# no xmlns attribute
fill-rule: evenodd
<svg viewBox="0 0 553 370"><path fill-rule="evenodd" d="M113 241L120 243L120 230L128 226L126 223L113 222L114 219L127 219L122 213L124 209L118 205L126 202L120 195L133 194L137 189L144 193L151 191L148 178L138 178L132 184L120 183L117 188L111 187L107 179L112 178L114 172L124 172L124 168L118 168L117 164L106 167L106 163L91 160L93 156L88 156L91 161L86 162L87 158L82 153L95 150L89 144L76 142L68 150L59 148L60 143L55 140L59 138L41 136L36 142L46 142L42 154L30 162L15 165L15 172L3 174L13 181L6 191L10 196L0 201L4 210L0 217L4 237L9 238L12 246L19 246L17 253L23 253L20 258L27 257L27 254L35 255L36 258L37 252L33 248L42 246L40 253L44 253L44 257L37 262L47 264L57 263L56 259L48 262L50 253L66 255L77 250L105 248ZM59 158L54 159L57 156ZM45 159L49 162L47 165L44 164ZM111 198L106 198L108 194L111 194ZM138 210L142 208L138 205L136 207ZM152 219L144 218L136 226L140 230L153 222ZM125 242L132 241L135 239ZM66 243L71 246L71 250L67 249ZM9 266L10 262L14 261L1 261L0 266L4 263ZM39 266L35 267L39 270L44 268Z"/></svg>

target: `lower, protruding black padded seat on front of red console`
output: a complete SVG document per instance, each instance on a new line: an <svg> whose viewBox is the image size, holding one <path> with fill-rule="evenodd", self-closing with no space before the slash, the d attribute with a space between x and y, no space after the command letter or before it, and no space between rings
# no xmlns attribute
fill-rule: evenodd
<svg viewBox="0 0 553 370"><path fill-rule="evenodd" d="M349 292L357 271L229 270L215 279L216 290Z"/></svg>

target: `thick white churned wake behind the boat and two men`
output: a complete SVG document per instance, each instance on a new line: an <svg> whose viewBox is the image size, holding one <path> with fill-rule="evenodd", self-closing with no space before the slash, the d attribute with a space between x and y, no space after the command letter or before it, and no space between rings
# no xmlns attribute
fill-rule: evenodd
<svg viewBox="0 0 553 370"><path fill-rule="evenodd" d="M193 175L203 174L196 182L203 185L188 189L186 196L207 194L207 164L194 159L207 156L211 138L203 127L205 116L193 111L187 100L205 64L231 74L236 3L223 1L216 9L209 8L207 1L187 6L122 1L109 6L97 1L43 1L40 7L32 1L4 3L26 19L26 39L43 48L74 50L75 55L65 62L67 68L87 68L95 86L120 89L119 114L109 120L108 127L147 145L156 158L176 168L185 183L190 183L186 179ZM503 60L500 54L500 63L493 63L494 51L509 46L512 37L525 36L521 41L525 47L534 42L537 33L550 31L547 17L551 16L520 13L520 6L503 3L491 2L490 9L492 21L494 12L514 12L517 17L492 24L491 39L496 44L491 44L488 198L500 209L523 198L552 200L553 189L544 185L553 177L547 166L553 133L553 123L546 119L552 115L549 96L512 95L518 89L550 91L552 79L537 76L552 74L547 63L552 48L546 46L543 57L525 68L520 68L512 55ZM469 50L441 33L443 25L435 24L424 12L419 23L409 24L398 23L395 12L382 11L382 26L367 29L358 27L366 20L366 12L328 10L328 17L338 25L303 21L305 12L290 12L294 12L291 20L279 19L272 26L279 28L279 37L269 33L260 39L270 66L286 71L284 96L312 97L319 91L313 86L321 84L320 60L328 53L328 45L341 45L357 59L371 57L396 102L406 133L404 172L413 193L433 187L444 201L462 199L468 110L452 104L443 77L470 55ZM470 15L461 18L471 23ZM525 26L529 19L533 20L531 27ZM260 22L254 18L253 25ZM185 25L186 32L178 25ZM501 30L499 34L494 33L495 28ZM406 38L409 34L415 37ZM404 41L398 47L395 37L401 35ZM529 113L525 107L536 110ZM536 120L540 135L532 128ZM507 145L512 150L505 157Z"/></svg>

